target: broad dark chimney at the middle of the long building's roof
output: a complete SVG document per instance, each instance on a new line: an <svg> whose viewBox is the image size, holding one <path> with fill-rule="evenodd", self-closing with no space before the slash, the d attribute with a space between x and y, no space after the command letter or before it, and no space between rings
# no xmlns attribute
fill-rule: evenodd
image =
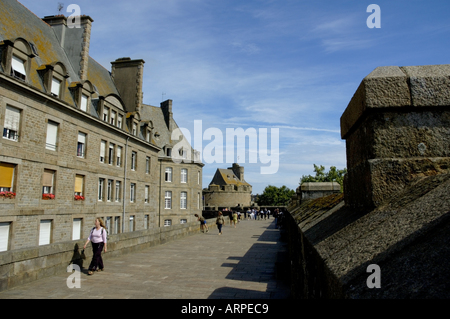
<svg viewBox="0 0 450 319"><path fill-rule="evenodd" d="M130 58L120 58L111 62L111 76L127 112L139 111L142 106L144 63L144 60Z"/></svg>

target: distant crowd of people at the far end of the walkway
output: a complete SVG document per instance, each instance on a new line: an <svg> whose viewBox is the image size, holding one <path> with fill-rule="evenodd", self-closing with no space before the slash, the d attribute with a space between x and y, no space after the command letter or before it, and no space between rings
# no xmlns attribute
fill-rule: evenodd
<svg viewBox="0 0 450 319"><path fill-rule="evenodd" d="M230 226L234 226L234 228L236 228L236 225L241 220L266 220L270 219L270 216L275 219L275 227L279 228L281 226L281 220L283 217L283 212L280 211L279 208L274 209L273 212L267 208L261 210L258 210L257 208L249 208L247 210L244 210L243 213L241 213L240 211L233 211L225 208L222 211L219 211L219 214L216 218L216 225L217 229L219 230L219 235L222 235L222 227L225 224L226 217L228 217L230 221ZM195 217L197 217L197 221L200 222L200 230L204 233L207 233L209 229L208 225L206 224L205 218L203 216L198 216L197 214L195 214Z"/></svg>

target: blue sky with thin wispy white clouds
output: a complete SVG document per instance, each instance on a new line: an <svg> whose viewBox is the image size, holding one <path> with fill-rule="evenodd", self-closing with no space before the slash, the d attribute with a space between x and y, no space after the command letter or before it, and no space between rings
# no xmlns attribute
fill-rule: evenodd
<svg viewBox="0 0 450 319"><path fill-rule="evenodd" d="M314 175L313 164L347 166L340 117L375 68L450 62L450 2L442 0L20 2L38 17L58 14L58 3L69 16L67 7L77 4L94 20L91 57L108 70L121 57L143 59L144 103L173 100L174 119L191 144L201 121L204 159L210 161L212 145L223 145L222 160L203 161L203 187L217 168L238 162L253 194L268 185L296 189L302 175ZM371 4L380 9L378 20L367 11ZM380 27L369 28L368 20ZM236 142L227 162L227 128L254 129L272 162L250 138L245 158L237 157ZM222 141L208 140L208 129L222 132ZM263 174L276 158L276 172Z"/></svg>

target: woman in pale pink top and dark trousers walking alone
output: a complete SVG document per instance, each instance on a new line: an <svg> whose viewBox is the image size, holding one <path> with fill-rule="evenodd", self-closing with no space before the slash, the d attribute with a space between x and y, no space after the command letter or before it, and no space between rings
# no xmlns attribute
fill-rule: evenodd
<svg viewBox="0 0 450 319"><path fill-rule="evenodd" d="M89 237L84 244L84 249L86 249L87 244L89 241L92 242L92 261L89 265L88 274L92 275L94 274L94 271L101 270L103 271L103 259L102 259L102 250L106 253L106 227L103 223L103 220L101 218L95 219L95 227L92 228L91 233L89 234Z"/></svg>

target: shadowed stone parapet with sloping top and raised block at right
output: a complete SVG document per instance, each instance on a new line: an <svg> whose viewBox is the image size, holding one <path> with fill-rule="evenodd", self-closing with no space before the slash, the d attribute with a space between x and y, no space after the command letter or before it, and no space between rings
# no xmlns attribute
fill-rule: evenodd
<svg viewBox="0 0 450 319"><path fill-rule="evenodd" d="M450 298L449 92L449 65L362 81L341 117L344 195L288 207L294 298Z"/></svg>

